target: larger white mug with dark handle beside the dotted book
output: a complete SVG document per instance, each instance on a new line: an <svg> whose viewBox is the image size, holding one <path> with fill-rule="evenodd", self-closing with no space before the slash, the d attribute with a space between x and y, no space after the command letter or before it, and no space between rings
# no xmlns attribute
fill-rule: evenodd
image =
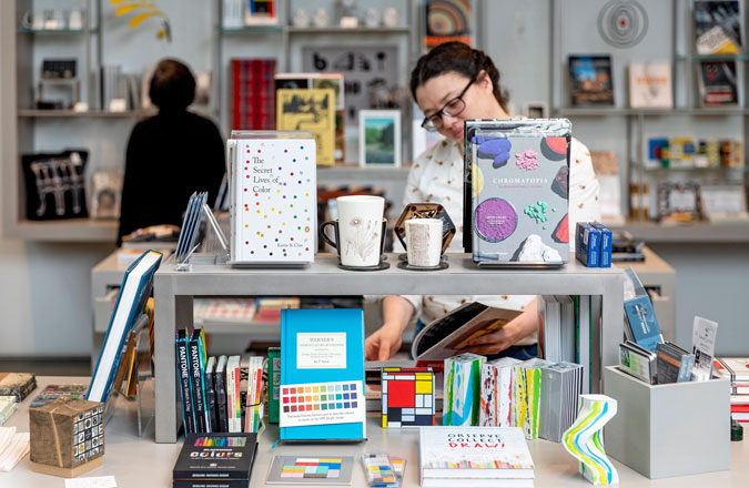
<svg viewBox="0 0 749 488"><path fill-rule="evenodd" d="M337 221L321 225L323 240L338 251L344 266L377 266L384 244L385 199L373 195L346 195L336 199ZM325 234L335 225L336 242Z"/></svg>

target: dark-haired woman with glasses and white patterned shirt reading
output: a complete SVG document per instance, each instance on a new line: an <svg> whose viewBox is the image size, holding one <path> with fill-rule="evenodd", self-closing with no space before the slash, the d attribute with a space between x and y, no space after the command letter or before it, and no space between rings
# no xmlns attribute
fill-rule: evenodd
<svg viewBox="0 0 749 488"><path fill-rule="evenodd" d="M499 72L484 52L460 43L441 44L423 55L411 74L411 93L425 118L422 126L445 139L414 161L404 205L442 204L457 227L448 252L463 252L463 122L470 119L508 119L508 95ZM576 139L570 144L569 228L577 222L600 221L598 182L590 153ZM570 240L570 246L574 245ZM456 291L459 292L459 291ZM469 302L523 311L502 329L472 343L468 350L490 359L536 357L538 314L530 295L391 295L383 299L383 326L367 337L367 360L385 360L401 348L401 337L414 314L416 333L429 322Z"/></svg>

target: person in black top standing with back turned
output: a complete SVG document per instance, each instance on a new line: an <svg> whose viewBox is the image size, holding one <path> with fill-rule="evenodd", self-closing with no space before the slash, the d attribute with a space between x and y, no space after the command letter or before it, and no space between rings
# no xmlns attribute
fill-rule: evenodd
<svg viewBox="0 0 749 488"><path fill-rule="evenodd" d="M183 63L159 62L149 89L159 113L130 134L118 245L149 225L182 225L193 192L219 194L225 172L224 141L213 122L188 111L195 79Z"/></svg>

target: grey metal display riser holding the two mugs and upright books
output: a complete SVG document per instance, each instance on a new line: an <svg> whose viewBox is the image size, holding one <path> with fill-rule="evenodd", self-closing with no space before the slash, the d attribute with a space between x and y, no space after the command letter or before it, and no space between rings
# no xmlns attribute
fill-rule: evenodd
<svg viewBox="0 0 749 488"><path fill-rule="evenodd" d="M387 260L397 262L395 254ZM193 297L245 295L597 295L601 296L600 352L597 367L617 364L624 334L624 277L621 271L588 268L574 260L561 270L479 270L467 254L449 256L451 267L435 273L388 270L351 273L337 267L337 256L318 254L300 268L231 268L193 262L191 272L178 272L173 258L162 263L154 277L155 291L155 440L175 443L178 395L174 377L174 333L193 324ZM596 357L594 355L594 357Z"/></svg>

